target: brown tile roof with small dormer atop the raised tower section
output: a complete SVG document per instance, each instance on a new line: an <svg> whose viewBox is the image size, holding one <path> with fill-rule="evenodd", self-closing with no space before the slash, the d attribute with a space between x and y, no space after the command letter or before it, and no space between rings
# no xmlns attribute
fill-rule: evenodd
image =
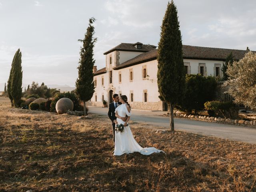
<svg viewBox="0 0 256 192"><path fill-rule="evenodd" d="M136 47L134 47L134 45L136 44L141 44L141 49L138 49ZM156 46L154 45L144 45L140 42L137 42L135 44L133 43L121 43L118 46L108 50L107 52L104 53L104 55L109 54L112 51L134 51L134 52L148 52L148 51L152 51L155 50Z"/></svg>

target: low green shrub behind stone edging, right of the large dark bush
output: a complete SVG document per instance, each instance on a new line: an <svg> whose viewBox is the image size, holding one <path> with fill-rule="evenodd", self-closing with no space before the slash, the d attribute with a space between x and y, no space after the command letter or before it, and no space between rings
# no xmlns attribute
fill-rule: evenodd
<svg viewBox="0 0 256 192"><path fill-rule="evenodd" d="M232 102L220 102L220 101L207 101L204 103L204 108L208 111L210 116L215 114L222 114L225 118L230 116L230 108L232 108Z"/></svg>

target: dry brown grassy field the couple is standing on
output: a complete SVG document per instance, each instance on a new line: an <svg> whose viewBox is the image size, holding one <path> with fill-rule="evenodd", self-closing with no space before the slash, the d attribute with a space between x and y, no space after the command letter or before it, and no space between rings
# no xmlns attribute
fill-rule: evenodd
<svg viewBox="0 0 256 192"><path fill-rule="evenodd" d="M130 127L166 155L115 157L106 116L21 110L0 98L0 192L256 191L256 145Z"/></svg>

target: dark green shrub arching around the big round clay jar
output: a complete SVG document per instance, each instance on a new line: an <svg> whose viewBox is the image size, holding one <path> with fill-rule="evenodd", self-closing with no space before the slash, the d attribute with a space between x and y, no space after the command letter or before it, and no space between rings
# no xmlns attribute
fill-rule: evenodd
<svg viewBox="0 0 256 192"><path fill-rule="evenodd" d="M79 111L80 110L80 100L78 98L78 96L74 93L70 93L70 92L66 92L66 93L59 93L59 94L56 94L54 96L54 98L52 98L52 103L51 103L51 112L55 112L56 109L55 109L55 106L56 106L56 103L59 99L61 98L69 98L70 100L72 100L72 102L74 103L74 111Z"/></svg>

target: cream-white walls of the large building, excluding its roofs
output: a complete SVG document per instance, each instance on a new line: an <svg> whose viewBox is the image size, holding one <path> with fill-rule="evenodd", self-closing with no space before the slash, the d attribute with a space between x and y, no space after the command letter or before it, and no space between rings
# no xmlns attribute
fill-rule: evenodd
<svg viewBox="0 0 256 192"><path fill-rule="evenodd" d="M106 73L94 76L94 81L96 82L95 92L88 105L103 106L103 100L106 100L107 104L109 104L112 101L112 93L126 95L129 104L135 109L164 110L165 105L158 98L158 62L156 59L119 70L113 69L115 66L142 53L113 51L106 54ZM184 65L188 66L188 74L198 74L203 71L205 76L216 76L216 71L221 76L222 63L223 61L216 60L184 59ZM110 82L111 72L112 83ZM130 77L131 72L132 78ZM144 72L146 72L146 78Z"/></svg>

